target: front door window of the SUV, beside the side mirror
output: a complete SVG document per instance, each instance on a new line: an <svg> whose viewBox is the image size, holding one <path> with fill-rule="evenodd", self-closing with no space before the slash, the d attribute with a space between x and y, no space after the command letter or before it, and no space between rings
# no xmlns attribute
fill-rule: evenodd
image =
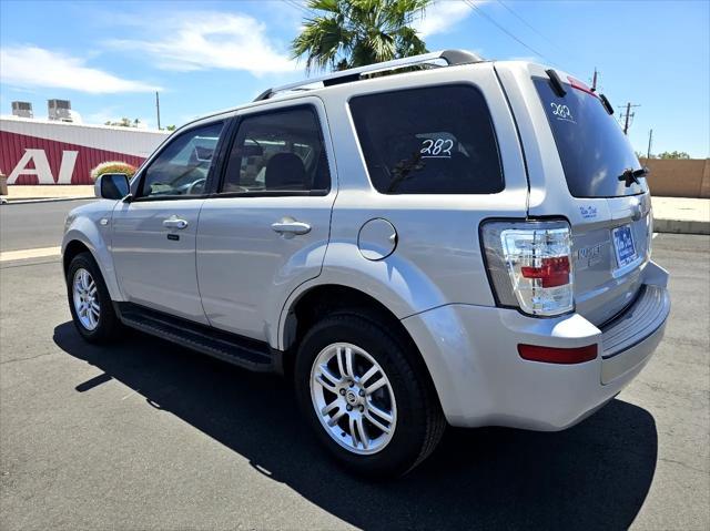
<svg viewBox="0 0 710 531"><path fill-rule="evenodd" d="M223 125L211 123L173 139L145 170L140 197L204 193Z"/></svg>

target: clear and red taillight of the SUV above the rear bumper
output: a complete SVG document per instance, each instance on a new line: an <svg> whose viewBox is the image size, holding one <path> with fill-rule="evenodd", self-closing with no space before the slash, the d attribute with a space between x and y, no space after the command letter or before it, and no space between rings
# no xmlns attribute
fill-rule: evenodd
<svg viewBox="0 0 710 531"><path fill-rule="evenodd" d="M575 308L567 222L490 222L483 226L483 242L501 305L539 316Z"/></svg>

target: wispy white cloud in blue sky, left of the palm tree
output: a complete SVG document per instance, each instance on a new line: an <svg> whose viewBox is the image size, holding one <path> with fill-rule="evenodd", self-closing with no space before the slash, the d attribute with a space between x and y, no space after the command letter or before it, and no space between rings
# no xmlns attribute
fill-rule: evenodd
<svg viewBox="0 0 710 531"><path fill-rule="evenodd" d="M216 11L182 12L150 28L155 39L120 39L108 44L148 53L165 70L245 70L254 75L292 72L286 53L266 37L266 25L256 19Z"/></svg>

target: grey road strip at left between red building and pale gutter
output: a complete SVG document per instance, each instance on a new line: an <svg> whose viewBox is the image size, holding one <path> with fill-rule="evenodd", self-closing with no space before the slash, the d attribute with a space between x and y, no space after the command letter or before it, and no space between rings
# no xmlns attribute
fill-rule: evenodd
<svg viewBox="0 0 710 531"><path fill-rule="evenodd" d="M52 201L0 206L0 251L54 247L62 243L69 211L97 200Z"/></svg>

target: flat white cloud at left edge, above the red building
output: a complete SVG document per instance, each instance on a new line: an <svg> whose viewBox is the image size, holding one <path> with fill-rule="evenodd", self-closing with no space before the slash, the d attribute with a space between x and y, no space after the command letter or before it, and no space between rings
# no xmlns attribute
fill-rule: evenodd
<svg viewBox="0 0 710 531"><path fill-rule="evenodd" d="M19 86L70 89L94 94L159 90L141 81L121 79L89 68L83 59L32 45L0 50L0 81Z"/></svg>

